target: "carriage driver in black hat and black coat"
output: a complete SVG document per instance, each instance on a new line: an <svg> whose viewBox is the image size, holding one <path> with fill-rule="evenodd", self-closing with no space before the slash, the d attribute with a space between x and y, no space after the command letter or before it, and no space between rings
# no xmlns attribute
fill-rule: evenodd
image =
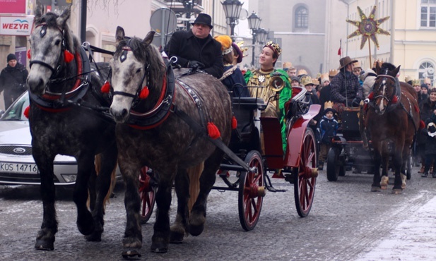
<svg viewBox="0 0 436 261"><path fill-rule="evenodd" d="M175 56L176 63L183 68L201 69L221 78L224 71L221 44L210 35L211 16L200 13L192 25L192 30L174 32L165 52L168 57Z"/></svg>

